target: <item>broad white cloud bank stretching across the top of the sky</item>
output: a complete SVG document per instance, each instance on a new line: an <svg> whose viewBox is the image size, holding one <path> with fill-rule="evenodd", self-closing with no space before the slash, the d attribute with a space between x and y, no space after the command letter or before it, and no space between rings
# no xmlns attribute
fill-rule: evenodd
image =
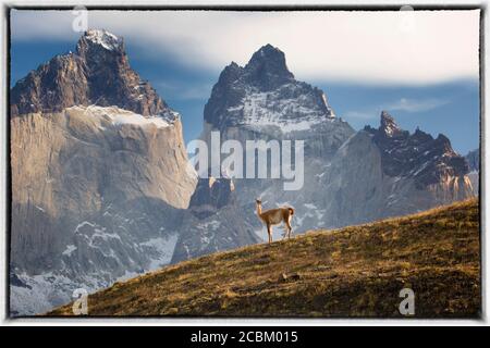
<svg viewBox="0 0 490 348"><path fill-rule="evenodd" d="M14 39L76 40L70 11L13 11ZM90 11L90 27L124 36L142 54L196 69L245 64L271 44L305 80L431 84L478 77L479 10Z"/></svg>

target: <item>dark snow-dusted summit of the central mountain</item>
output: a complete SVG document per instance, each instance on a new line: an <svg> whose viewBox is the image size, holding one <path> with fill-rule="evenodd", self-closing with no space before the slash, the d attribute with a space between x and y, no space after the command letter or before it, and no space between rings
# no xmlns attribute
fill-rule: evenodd
<svg viewBox="0 0 490 348"><path fill-rule="evenodd" d="M335 115L318 88L298 82L282 51L264 46L245 67L231 63L221 73L205 107L213 128L265 126L291 133L333 122Z"/></svg>

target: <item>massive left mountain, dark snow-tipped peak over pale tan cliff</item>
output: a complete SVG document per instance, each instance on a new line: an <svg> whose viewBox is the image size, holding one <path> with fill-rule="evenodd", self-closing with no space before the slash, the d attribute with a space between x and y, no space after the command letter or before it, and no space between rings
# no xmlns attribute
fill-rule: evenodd
<svg viewBox="0 0 490 348"><path fill-rule="evenodd" d="M11 96L12 313L169 263L196 175L123 40L89 30Z"/></svg>

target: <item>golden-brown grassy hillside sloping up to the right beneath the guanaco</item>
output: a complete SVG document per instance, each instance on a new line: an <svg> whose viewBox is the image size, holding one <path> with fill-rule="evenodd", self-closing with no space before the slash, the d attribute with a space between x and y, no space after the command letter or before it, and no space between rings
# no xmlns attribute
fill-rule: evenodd
<svg viewBox="0 0 490 348"><path fill-rule="evenodd" d="M90 295L88 314L403 318L409 287L415 316L475 318L479 260L470 200L167 266Z"/></svg>

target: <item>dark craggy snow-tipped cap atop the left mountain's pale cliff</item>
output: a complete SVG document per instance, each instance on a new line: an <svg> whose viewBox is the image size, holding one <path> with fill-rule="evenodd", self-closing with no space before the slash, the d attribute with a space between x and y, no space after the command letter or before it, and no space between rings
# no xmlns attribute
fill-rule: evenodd
<svg viewBox="0 0 490 348"><path fill-rule="evenodd" d="M57 55L39 65L11 92L12 115L89 104L175 120L151 85L131 67L124 39L103 29L85 32L75 53Z"/></svg>

